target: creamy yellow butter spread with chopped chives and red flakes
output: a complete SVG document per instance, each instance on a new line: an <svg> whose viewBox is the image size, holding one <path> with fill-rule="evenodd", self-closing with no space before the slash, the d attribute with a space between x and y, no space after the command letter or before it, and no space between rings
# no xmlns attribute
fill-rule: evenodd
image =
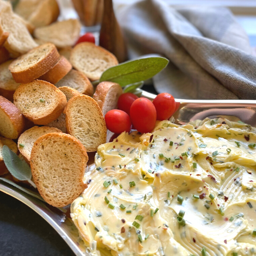
<svg viewBox="0 0 256 256"><path fill-rule="evenodd" d="M158 122L98 147L71 217L91 255L255 255L256 129Z"/></svg>

